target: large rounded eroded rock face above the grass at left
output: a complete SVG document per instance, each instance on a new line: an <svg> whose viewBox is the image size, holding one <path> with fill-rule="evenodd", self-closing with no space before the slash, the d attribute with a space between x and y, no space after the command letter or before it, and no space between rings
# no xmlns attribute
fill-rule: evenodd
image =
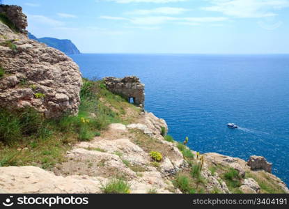
<svg viewBox="0 0 289 209"><path fill-rule="evenodd" d="M32 107L46 118L77 114L81 73L62 52L0 22L0 107Z"/></svg>

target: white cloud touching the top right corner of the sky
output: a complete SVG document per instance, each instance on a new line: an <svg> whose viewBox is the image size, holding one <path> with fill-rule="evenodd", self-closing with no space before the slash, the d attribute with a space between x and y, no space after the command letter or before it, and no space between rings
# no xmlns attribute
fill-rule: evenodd
<svg viewBox="0 0 289 209"><path fill-rule="evenodd" d="M212 6L203 10L240 18L276 16L276 11L289 7L288 0L208 0Z"/></svg>

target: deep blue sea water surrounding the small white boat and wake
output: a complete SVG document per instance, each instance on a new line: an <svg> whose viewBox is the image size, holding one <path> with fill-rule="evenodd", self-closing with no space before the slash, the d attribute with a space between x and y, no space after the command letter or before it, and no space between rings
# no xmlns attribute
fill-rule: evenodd
<svg viewBox="0 0 289 209"><path fill-rule="evenodd" d="M146 110L202 153L263 155L289 185L289 55L79 54L84 77L136 75ZM231 130L227 123L240 129Z"/></svg>

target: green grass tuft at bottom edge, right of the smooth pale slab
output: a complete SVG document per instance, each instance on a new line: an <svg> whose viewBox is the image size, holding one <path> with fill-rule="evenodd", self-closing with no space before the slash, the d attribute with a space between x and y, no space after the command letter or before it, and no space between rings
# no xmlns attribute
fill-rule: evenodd
<svg viewBox="0 0 289 209"><path fill-rule="evenodd" d="M125 180L114 179L102 185L104 194L130 194L130 185Z"/></svg>

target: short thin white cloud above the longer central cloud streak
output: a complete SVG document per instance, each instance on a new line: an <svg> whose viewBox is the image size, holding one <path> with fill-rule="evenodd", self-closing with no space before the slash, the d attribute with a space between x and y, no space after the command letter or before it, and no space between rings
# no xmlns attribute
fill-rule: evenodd
<svg viewBox="0 0 289 209"><path fill-rule="evenodd" d="M177 7L159 7L151 10L134 10L126 13L127 15L179 15L187 12L189 9Z"/></svg>

